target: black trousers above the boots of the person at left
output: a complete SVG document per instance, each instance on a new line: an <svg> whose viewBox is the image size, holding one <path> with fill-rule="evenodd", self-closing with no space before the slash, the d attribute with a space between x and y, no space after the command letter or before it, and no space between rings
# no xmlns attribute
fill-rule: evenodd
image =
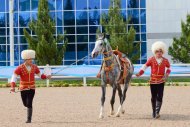
<svg viewBox="0 0 190 127"><path fill-rule="evenodd" d="M34 95L35 95L35 90L33 89L21 91L21 98L23 105L25 107L32 108Z"/></svg>

